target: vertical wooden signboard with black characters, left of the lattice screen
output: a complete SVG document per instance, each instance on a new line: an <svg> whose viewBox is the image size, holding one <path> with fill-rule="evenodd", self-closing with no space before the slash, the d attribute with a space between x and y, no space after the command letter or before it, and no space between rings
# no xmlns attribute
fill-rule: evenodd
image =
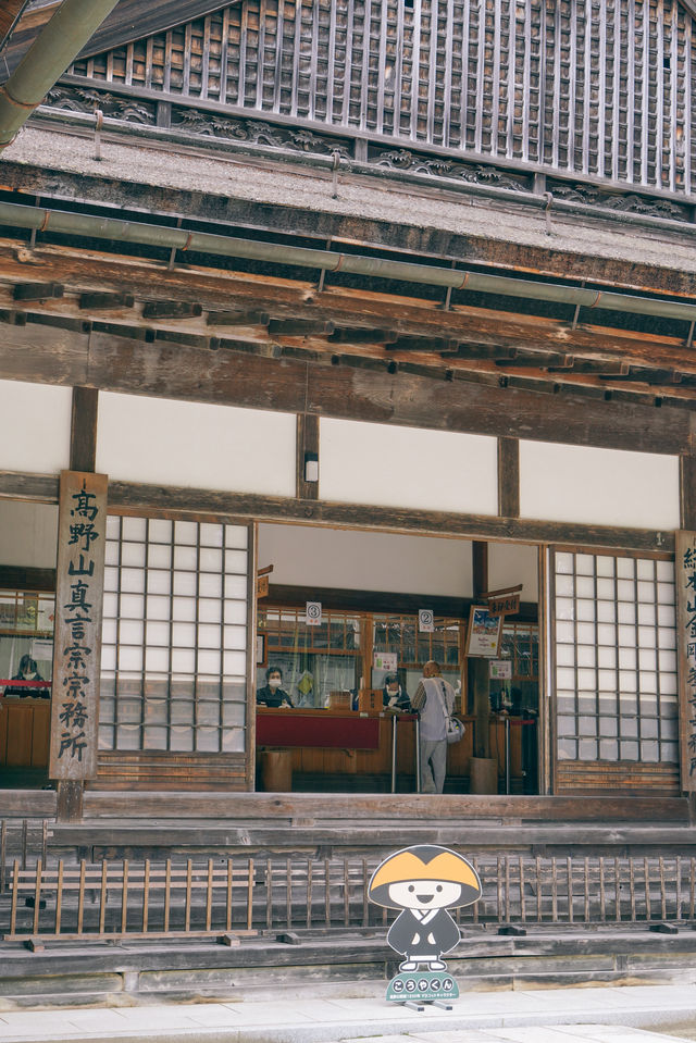
<svg viewBox="0 0 696 1043"><path fill-rule="evenodd" d="M49 777L97 774L107 475L62 471Z"/></svg>

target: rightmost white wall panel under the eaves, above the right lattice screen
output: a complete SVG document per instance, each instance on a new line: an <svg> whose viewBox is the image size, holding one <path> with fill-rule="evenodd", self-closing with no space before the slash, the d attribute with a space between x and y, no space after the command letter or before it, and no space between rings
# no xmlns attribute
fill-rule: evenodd
<svg viewBox="0 0 696 1043"><path fill-rule="evenodd" d="M545 521L679 529L679 458L522 440L520 514Z"/></svg>

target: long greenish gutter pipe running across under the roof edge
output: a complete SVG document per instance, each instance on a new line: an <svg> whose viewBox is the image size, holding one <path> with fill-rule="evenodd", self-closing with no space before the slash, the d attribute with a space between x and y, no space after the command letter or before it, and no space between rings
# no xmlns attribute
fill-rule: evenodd
<svg viewBox="0 0 696 1043"><path fill-rule="evenodd" d="M521 297L532 300L554 301L581 308L602 308L610 311L654 315L660 319L679 319L696 322L696 303L680 300L660 300L614 294L609 290L585 289L581 286L564 286L556 283L510 278L505 275L462 272L451 268L391 261L366 257L361 253L339 253L335 250L315 250L307 247L287 246L257 239L240 239L234 236L214 235L209 232L187 232L165 225L122 221L119 218L96 214L71 213L49 210L45 207L26 207L0 201L0 225L30 228L37 232L53 232L60 235L87 236L132 243L139 246L165 247L182 251L209 253L213 257L245 258L276 264L291 264L363 275L372 278L390 278L423 286L443 286L452 289L469 289L501 297Z"/></svg>

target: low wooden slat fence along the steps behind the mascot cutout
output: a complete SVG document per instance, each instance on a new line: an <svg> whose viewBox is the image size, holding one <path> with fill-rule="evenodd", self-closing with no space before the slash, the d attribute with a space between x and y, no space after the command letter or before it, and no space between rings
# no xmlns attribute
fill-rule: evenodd
<svg viewBox="0 0 696 1043"><path fill-rule="evenodd" d="M366 858L215 855L52 865L39 857L22 868L16 858L0 895L0 933L108 939L370 928L396 916L369 902L375 865ZM694 920L691 857L499 855L482 857L476 868L483 895L457 911L464 928Z"/></svg>

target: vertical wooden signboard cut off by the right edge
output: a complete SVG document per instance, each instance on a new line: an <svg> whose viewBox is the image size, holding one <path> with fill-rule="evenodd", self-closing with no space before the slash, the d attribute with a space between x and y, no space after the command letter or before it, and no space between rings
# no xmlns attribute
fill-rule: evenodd
<svg viewBox="0 0 696 1043"><path fill-rule="evenodd" d="M676 661L682 790L696 791L696 532L676 533Z"/></svg>

